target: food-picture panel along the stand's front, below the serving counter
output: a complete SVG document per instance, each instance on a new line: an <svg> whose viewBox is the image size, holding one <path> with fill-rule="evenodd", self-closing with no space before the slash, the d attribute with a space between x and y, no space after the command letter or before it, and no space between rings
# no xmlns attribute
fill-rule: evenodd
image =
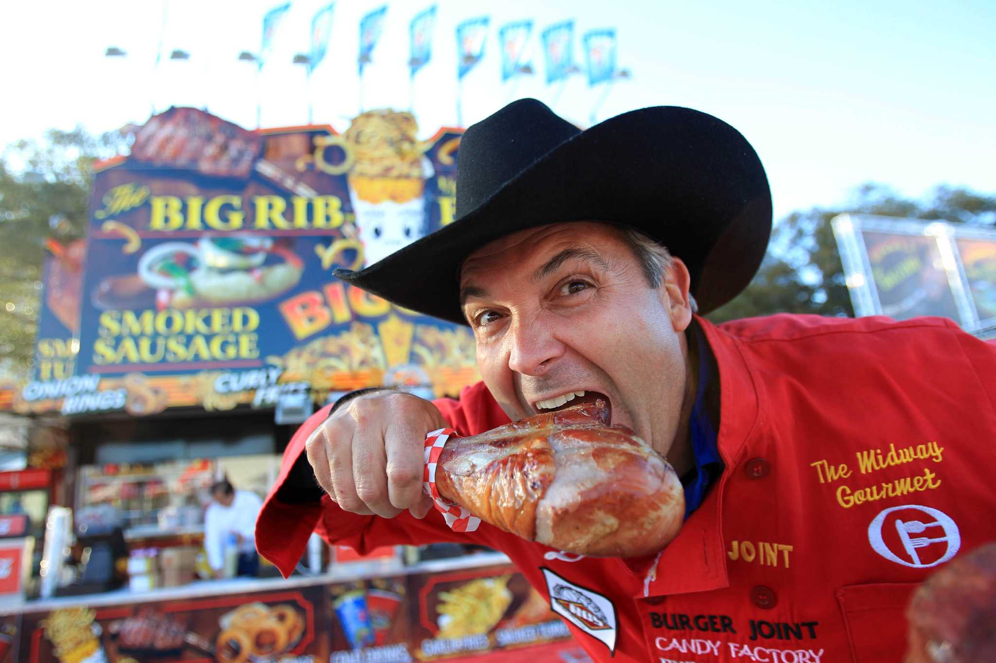
<svg viewBox="0 0 996 663"><path fill-rule="evenodd" d="M508 565L22 619L19 660L35 663L586 660Z"/></svg>

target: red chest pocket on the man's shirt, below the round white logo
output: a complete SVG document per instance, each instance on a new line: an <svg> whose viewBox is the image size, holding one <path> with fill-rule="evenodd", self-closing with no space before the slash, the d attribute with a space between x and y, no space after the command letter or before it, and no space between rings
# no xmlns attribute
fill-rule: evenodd
<svg viewBox="0 0 996 663"><path fill-rule="evenodd" d="M852 584L837 590L855 663L901 663L906 604L915 582Z"/></svg>

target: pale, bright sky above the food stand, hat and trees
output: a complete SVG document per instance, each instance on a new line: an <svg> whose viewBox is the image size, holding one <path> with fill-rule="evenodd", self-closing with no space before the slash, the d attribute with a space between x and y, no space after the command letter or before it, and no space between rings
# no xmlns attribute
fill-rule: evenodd
<svg viewBox="0 0 996 663"><path fill-rule="evenodd" d="M327 0L297 0L257 78L240 51L257 51L273 0L4 3L0 62L5 94L0 144L48 127L93 131L141 122L151 107L207 106L255 125L302 124L309 86L291 64L307 51L311 17ZM315 119L339 130L358 110L360 18L372 0L336 3L332 44L310 81ZM364 79L366 106L406 108L407 26L430 0L388 3L380 43ZM996 191L996 3L993 2L459 2L439 0L432 62L418 74L414 111L424 136L456 123L454 28L490 16L485 59L464 80L465 123L517 96L536 96L587 124L602 94L574 77L558 95L543 77L539 33L576 21L575 57L585 31L612 27L619 64L598 119L646 105L685 105L740 129L772 184L776 218L845 201L866 181L920 196L937 184ZM165 12L163 9L165 8ZM163 21L165 16L165 21ZM535 22L536 76L501 83L497 28ZM187 62L153 67L159 42ZM124 59L104 57L118 46ZM19 92L19 93L15 93Z"/></svg>

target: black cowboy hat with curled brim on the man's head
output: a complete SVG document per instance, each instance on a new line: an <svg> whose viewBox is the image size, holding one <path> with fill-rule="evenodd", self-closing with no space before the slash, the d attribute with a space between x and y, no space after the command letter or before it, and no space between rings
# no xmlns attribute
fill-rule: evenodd
<svg viewBox="0 0 996 663"><path fill-rule="evenodd" d="M771 234L771 192L750 143L690 108L654 106L582 131L520 99L464 133L453 223L344 281L399 306L466 324L459 268L476 249L527 228L569 221L632 227L691 272L700 313L737 295Z"/></svg>

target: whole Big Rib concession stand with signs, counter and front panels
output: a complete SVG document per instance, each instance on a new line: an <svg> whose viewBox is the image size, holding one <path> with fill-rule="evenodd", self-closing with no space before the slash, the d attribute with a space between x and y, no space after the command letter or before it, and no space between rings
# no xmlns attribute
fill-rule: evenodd
<svg viewBox="0 0 996 663"><path fill-rule="evenodd" d="M86 238L48 247L31 380L0 383L30 421L0 472L0 663L586 660L491 551L313 537L289 580L206 564L210 486L264 495L316 408L478 380L467 329L332 275L452 220L460 134L174 107L96 166Z"/></svg>

